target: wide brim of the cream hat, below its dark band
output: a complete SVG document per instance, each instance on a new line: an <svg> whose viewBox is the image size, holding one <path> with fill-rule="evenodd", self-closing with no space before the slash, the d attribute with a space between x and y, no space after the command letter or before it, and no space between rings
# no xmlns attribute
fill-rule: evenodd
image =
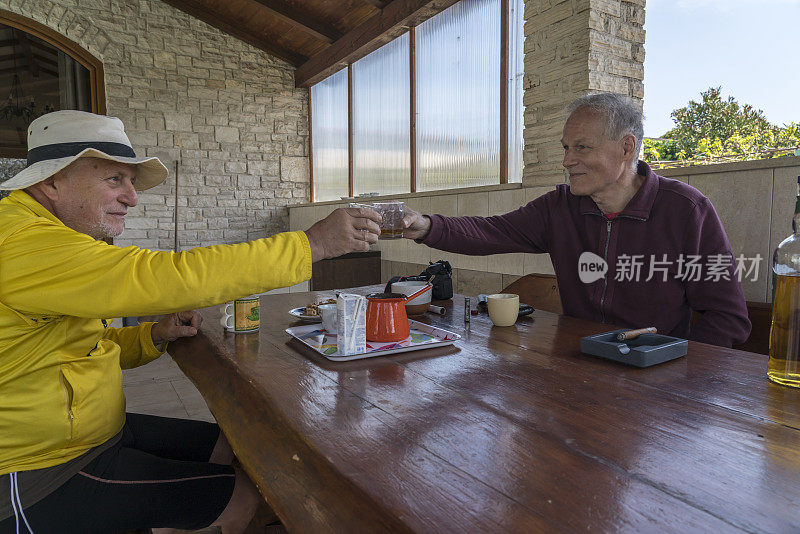
<svg viewBox="0 0 800 534"><path fill-rule="evenodd" d="M110 156L95 148L86 148L74 156L38 161L30 167L25 167L10 179L5 182L0 182L0 189L25 189L26 187L38 184L64 169L78 158L100 158L135 165L136 181L134 182L134 188L137 191L144 191L145 189L150 189L151 187L159 185L167 179L167 175L169 174L169 171L167 171L167 168L161 163L161 160L155 156L148 158L126 158L122 156Z"/></svg>

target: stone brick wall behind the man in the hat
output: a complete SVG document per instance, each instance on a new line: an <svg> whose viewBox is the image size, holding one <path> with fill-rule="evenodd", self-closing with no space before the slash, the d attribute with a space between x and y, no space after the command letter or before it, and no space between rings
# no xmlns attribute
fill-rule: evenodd
<svg viewBox="0 0 800 534"><path fill-rule="evenodd" d="M143 192L115 242L179 247L283 231L309 198L307 91L294 69L158 0L0 0L103 62L107 114L167 182Z"/></svg>

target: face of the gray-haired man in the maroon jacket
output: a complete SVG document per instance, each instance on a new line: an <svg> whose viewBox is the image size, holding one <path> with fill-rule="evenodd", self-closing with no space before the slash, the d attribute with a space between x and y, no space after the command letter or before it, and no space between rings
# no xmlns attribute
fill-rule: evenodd
<svg viewBox="0 0 800 534"><path fill-rule="evenodd" d="M608 193L625 174L630 162L622 141L608 139L602 115L587 110L573 113L564 124L562 165L569 174L573 195Z"/></svg>

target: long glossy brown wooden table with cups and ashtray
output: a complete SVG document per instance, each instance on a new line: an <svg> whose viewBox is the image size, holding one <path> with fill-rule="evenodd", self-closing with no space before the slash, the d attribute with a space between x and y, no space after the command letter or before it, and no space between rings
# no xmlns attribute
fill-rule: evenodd
<svg viewBox="0 0 800 534"><path fill-rule="evenodd" d="M291 532L800 531L800 391L766 356L637 369L580 353L608 325L466 327L456 296L424 316L454 347L334 363L283 332L312 301L262 297L246 335L207 308L170 348Z"/></svg>

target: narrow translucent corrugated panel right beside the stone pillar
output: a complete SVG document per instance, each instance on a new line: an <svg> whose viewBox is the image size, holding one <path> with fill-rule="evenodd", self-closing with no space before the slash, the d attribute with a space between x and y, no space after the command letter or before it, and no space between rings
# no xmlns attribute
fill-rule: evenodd
<svg viewBox="0 0 800 534"><path fill-rule="evenodd" d="M508 2L508 181L522 181L525 106L522 79L525 77L525 1Z"/></svg>

